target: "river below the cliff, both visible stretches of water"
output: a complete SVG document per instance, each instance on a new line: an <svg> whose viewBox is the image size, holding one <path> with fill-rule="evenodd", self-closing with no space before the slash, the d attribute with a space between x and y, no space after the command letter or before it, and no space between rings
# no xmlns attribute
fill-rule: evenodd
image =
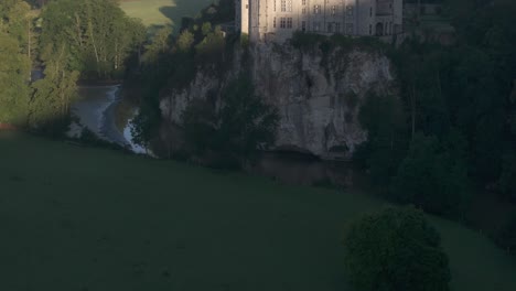
<svg viewBox="0 0 516 291"><path fill-rule="evenodd" d="M68 134L77 136L85 127L100 139L129 148L136 153L147 153L146 149L132 142L131 120L128 120L123 131L116 126L115 109L120 101L119 93L120 85L82 86L79 99L72 106L80 126L74 122ZM292 152L261 152L252 165L246 166L246 172L295 185L350 187L356 180L350 163L322 161Z"/></svg>

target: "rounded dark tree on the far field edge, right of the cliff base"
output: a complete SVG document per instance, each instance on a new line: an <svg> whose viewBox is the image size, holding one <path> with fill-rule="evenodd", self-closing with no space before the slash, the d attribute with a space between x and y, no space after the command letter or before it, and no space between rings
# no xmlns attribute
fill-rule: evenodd
<svg viewBox="0 0 516 291"><path fill-rule="evenodd" d="M463 138L453 131L444 142L416 133L393 181L389 197L437 214L463 214L469 179Z"/></svg>

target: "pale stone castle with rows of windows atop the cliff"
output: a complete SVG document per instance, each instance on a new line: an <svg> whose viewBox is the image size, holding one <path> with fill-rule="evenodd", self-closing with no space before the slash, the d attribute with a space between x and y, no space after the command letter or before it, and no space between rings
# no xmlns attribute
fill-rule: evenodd
<svg viewBox="0 0 516 291"><path fill-rule="evenodd" d="M402 0L236 0L236 30L251 42L283 42L295 31L332 35L402 32Z"/></svg>

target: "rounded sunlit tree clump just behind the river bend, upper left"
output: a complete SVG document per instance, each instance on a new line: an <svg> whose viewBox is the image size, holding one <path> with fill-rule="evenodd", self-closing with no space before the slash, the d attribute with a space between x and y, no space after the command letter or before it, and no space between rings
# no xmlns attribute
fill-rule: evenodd
<svg viewBox="0 0 516 291"><path fill-rule="evenodd" d="M128 18L116 0L60 0L42 13L41 57L66 55L60 64L83 77L111 78L123 73L130 54L140 50L146 29Z"/></svg>

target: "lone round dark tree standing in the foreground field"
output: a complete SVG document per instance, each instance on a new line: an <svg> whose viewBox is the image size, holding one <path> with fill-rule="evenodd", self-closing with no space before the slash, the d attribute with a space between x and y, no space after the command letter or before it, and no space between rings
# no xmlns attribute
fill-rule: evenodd
<svg viewBox="0 0 516 291"><path fill-rule="evenodd" d="M345 266L357 291L448 291L450 269L437 230L415 208L388 208L351 225Z"/></svg>

